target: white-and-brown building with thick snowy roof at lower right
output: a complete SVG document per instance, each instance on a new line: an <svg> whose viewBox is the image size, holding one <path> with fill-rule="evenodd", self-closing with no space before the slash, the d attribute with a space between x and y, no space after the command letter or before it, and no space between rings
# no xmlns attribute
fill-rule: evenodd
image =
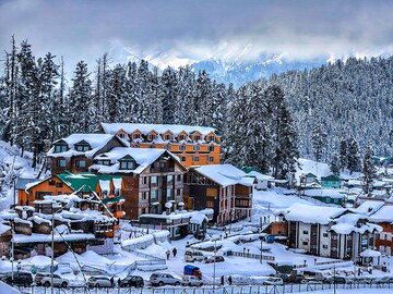
<svg viewBox="0 0 393 294"><path fill-rule="evenodd" d="M374 233L382 231L367 222L367 216L352 210L296 204L277 212L287 222L288 245L317 256L354 259L373 248Z"/></svg>

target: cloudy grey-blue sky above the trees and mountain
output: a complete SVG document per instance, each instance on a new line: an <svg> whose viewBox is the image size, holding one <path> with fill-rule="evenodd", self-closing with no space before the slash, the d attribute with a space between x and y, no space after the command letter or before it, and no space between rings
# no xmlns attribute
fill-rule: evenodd
<svg viewBox="0 0 393 294"><path fill-rule="evenodd" d="M104 52L164 65L209 58L294 59L393 52L390 0L0 0L0 49L28 39L72 66ZM164 52L157 58L157 52Z"/></svg>

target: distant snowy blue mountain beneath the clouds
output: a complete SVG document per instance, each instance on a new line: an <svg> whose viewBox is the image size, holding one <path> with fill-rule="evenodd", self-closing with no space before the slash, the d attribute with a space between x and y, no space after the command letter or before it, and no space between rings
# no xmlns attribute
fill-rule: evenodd
<svg viewBox="0 0 393 294"><path fill-rule="evenodd" d="M203 60L191 65L198 73L205 70L212 79L224 84L233 83L235 87L257 81L262 77L270 77L272 74L279 74L290 70L305 70L326 64L327 57L310 60L289 60L281 56L261 56L252 61L223 61L219 59Z"/></svg>

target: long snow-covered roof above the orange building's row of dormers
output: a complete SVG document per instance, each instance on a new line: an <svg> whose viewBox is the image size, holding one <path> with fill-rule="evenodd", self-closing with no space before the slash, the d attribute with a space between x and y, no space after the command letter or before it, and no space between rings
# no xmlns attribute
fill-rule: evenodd
<svg viewBox="0 0 393 294"><path fill-rule="evenodd" d="M188 134L199 132L203 136L207 135L209 133L216 132L214 127L177 124L102 123L100 125L106 134L111 135L117 134L121 130L123 130L127 134L139 131L144 135L147 135L152 131L155 131L158 134L164 134L169 131L175 136L182 132L186 132Z"/></svg>

